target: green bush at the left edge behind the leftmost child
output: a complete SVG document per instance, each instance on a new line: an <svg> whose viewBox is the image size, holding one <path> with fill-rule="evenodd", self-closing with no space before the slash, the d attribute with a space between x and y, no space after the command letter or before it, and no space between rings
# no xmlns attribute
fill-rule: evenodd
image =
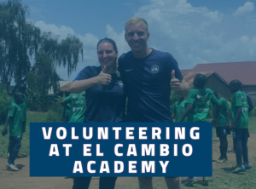
<svg viewBox="0 0 256 189"><path fill-rule="evenodd" d="M3 124L5 122L10 105L11 97L4 89L4 85L0 84L0 124Z"/></svg>

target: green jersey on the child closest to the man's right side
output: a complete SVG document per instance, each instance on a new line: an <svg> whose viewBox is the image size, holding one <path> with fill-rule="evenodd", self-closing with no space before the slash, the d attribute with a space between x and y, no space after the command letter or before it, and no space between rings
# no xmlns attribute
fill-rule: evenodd
<svg viewBox="0 0 256 189"><path fill-rule="evenodd" d="M208 122L210 104L220 104L211 89L190 89L188 103L193 104L187 122Z"/></svg>

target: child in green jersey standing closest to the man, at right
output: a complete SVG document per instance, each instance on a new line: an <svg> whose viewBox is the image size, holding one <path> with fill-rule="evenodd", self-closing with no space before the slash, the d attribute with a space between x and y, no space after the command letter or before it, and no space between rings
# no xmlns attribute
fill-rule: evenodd
<svg viewBox="0 0 256 189"><path fill-rule="evenodd" d="M208 122L208 115L210 112L210 103L217 105L215 118L212 119L212 125L217 126L218 114L220 111L220 103L215 97L211 89L205 89L207 77L201 73L197 74L194 78L194 89L190 89L188 98L188 107L179 122L183 122L187 117L187 122ZM193 186L198 180L196 177L189 177L185 186ZM204 177L202 185L208 185L208 178Z"/></svg>

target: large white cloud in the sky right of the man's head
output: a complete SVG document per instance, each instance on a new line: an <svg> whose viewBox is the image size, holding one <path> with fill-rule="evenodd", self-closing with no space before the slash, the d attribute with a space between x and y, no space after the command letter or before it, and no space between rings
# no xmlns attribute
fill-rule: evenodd
<svg viewBox="0 0 256 189"><path fill-rule="evenodd" d="M252 10L252 3L243 6ZM251 7L251 9L248 9ZM256 16L241 20L186 0L151 0L136 16L148 21L149 47L170 52L183 69L198 63L256 60ZM124 33L115 33L115 38ZM118 35L117 35L118 34Z"/></svg>

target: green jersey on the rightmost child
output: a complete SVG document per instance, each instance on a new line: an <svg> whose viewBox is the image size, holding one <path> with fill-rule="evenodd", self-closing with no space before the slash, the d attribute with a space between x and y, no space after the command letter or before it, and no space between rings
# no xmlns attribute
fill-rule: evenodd
<svg viewBox="0 0 256 189"><path fill-rule="evenodd" d="M236 120L236 129L248 128L248 104L247 96L242 91L237 91L233 94L231 100L231 121L233 123L236 117L236 112L239 107L242 107L241 115Z"/></svg>

